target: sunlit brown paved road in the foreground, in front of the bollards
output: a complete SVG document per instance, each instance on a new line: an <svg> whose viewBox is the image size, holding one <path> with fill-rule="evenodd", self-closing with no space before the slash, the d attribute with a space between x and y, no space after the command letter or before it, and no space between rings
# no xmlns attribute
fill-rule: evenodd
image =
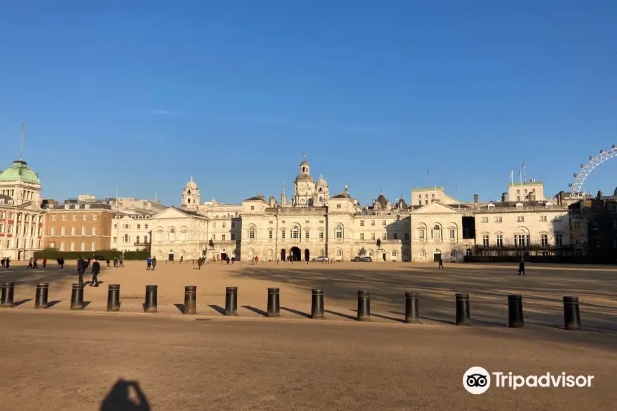
<svg viewBox="0 0 617 411"><path fill-rule="evenodd" d="M617 403L613 332L16 309L0 310L0 327L6 411L595 411ZM471 395L461 386L470 366L595 375L594 386ZM134 386L147 406L129 402Z"/></svg>

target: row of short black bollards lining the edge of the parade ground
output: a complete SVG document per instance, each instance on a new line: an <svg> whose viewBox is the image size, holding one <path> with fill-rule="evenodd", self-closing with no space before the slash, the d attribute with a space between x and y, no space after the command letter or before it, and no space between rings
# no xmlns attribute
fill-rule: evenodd
<svg viewBox="0 0 617 411"><path fill-rule="evenodd" d="M14 306L14 282L2 284L2 295L0 299L1 308L12 308ZM158 286L149 285L145 288L144 312L157 312L157 290ZM34 297L34 308L47 308L47 296L49 283L36 284L36 296ZM324 290L313 289L311 291L311 318L324 318ZM84 284L73 284L71 290L71 310L82 310L84 308ZM110 284L107 296L107 310L120 310L120 284ZM197 286L184 287L184 314L197 313ZM226 316L238 315L238 287L227 287L225 296ZM267 316L280 316L280 289L268 288ZM371 299L370 292L366 290L358 291L358 310L357 321L370 321L371 319ZM419 323L420 310L418 308L418 292L405 292L405 323ZM456 325L471 325L469 294L457 293L456 295ZM508 295L508 325L512 328L524 326L522 296ZM581 329L581 315L579 311L579 297L564 297L564 325L566 329Z"/></svg>

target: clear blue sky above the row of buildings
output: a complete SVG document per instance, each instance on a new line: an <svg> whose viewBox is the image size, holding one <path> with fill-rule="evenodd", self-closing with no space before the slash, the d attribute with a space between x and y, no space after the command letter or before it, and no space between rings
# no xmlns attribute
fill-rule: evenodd
<svg viewBox="0 0 617 411"><path fill-rule="evenodd" d="M567 190L617 144L617 3L19 1L0 12L0 162L58 200ZM614 190L617 160L585 182Z"/></svg>

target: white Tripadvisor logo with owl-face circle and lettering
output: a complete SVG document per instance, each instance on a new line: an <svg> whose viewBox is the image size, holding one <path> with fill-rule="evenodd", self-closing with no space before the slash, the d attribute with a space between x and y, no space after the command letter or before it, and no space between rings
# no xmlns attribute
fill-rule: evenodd
<svg viewBox="0 0 617 411"><path fill-rule="evenodd" d="M496 388L511 388L516 390L522 387L529 388L548 388L548 387L591 387L594 375L568 375L566 373L542 375L516 375L511 372L493 372L489 373L481 366L472 366L465 371L463 375L463 387L472 394L483 394L491 386L491 381L494 381Z"/></svg>

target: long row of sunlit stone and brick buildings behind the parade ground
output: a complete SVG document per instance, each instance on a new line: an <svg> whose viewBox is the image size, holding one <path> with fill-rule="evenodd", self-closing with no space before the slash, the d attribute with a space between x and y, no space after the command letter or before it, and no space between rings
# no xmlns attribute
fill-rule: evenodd
<svg viewBox="0 0 617 411"><path fill-rule="evenodd" d="M347 185L333 193L323 175L315 182L306 156L289 200L284 184L278 200L255 195L240 204L202 202L191 177L180 208L132 198L98 201L100 207L94 203L86 196L42 208L38 175L22 160L14 162L0 173L0 256L29 258L44 247L145 248L159 260L369 256L381 262L462 262L465 255L518 255L522 249L540 255L583 253L582 245L574 249L579 240L570 235L564 192L547 199L542 182L508 184L501 201L481 202L475 195L474 202L464 203L432 186L413 188L409 204L402 196L392 203L380 193L361 206ZM111 213L106 219L111 226L93 229L100 217L88 217L86 210Z"/></svg>

